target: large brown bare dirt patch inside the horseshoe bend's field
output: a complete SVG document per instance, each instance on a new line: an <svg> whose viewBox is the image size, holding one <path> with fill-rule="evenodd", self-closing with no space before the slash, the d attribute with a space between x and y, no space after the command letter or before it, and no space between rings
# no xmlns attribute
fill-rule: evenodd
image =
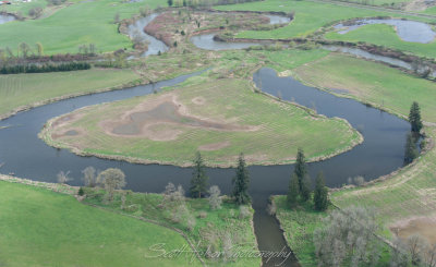
<svg viewBox="0 0 436 267"><path fill-rule="evenodd" d="M245 126L235 120L215 120L193 116L177 101L174 94L166 94L153 100L145 100L124 112L120 119L102 121L100 126L109 135L124 137L147 137L153 141L175 139L184 128L199 128L214 131L256 131L258 126ZM175 126L175 128L174 128Z"/></svg>

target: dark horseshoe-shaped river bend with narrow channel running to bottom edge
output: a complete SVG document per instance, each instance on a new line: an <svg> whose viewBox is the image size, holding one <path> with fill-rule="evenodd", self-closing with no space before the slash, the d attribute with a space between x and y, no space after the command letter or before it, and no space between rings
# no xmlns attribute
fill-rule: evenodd
<svg viewBox="0 0 436 267"><path fill-rule="evenodd" d="M126 99L134 96L152 94L162 86L172 86L198 73L182 75L173 80L153 85L137 86L122 90L99 93L75 97L28 111L20 112L0 121L0 162L4 162L1 172L13 172L17 177L38 181L55 182L56 174L70 170L74 178L73 185L81 183L81 171L94 166L104 170L110 167L120 168L125 172L128 189L136 192L161 193L168 182L189 187L192 170L174 166L136 165L125 161L81 157L66 149L56 149L46 145L37 137L47 120L71 112L77 108L100 102ZM311 177L323 170L328 186L339 186L349 177L363 175L366 180L388 174L400 168L403 162L403 147L409 123L392 114L348 99L340 98L316 88L296 82L292 77L278 77L271 69L261 69L254 76L254 82L265 93L278 95L282 99L293 100L306 107L316 107L320 114L339 117L348 120L364 136L364 142L352 150L308 165ZM277 220L266 213L270 195L286 194L293 166L251 166L250 194L253 198L254 230L261 251L289 251ZM218 185L223 194L231 192L233 169L207 168L209 184ZM281 258L271 258L264 266L275 266ZM290 257L281 266L299 266L295 258Z"/></svg>

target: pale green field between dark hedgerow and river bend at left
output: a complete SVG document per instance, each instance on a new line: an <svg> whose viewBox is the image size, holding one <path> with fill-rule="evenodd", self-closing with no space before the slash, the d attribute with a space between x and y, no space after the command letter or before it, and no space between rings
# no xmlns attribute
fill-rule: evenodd
<svg viewBox="0 0 436 267"><path fill-rule="evenodd" d="M0 75L0 116L49 99L137 82L132 70L98 70Z"/></svg>

